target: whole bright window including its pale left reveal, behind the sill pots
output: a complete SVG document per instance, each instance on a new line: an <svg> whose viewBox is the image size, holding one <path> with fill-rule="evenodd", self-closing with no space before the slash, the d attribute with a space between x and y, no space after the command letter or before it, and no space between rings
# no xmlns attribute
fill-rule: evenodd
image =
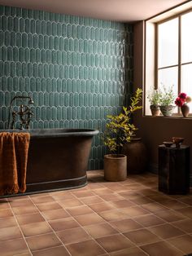
<svg viewBox="0 0 192 256"><path fill-rule="evenodd" d="M146 22L146 94L153 86L173 86L176 97L180 92L192 97L191 25L191 9L166 20ZM145 107L146 115L151 114L147 95ZM180 108L175 108L175 114L181 114Z"/></svg>

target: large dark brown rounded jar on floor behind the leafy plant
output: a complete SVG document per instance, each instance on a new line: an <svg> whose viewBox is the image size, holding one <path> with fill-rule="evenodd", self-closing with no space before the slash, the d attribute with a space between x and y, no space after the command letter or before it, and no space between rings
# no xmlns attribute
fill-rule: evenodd
<svg viewBox="0 0 192 256"><path fill-rule="evenodd" d="M141 138L124 143L123 153L127 156L127 174L141 174L146 170L147 152Z"/></svg>

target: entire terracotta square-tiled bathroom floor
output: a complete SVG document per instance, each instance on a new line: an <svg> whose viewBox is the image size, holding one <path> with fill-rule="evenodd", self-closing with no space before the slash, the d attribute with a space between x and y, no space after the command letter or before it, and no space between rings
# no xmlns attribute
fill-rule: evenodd
<svg viewBox="0 0 192 256"><path fill-rule="evenodd" d="M0 255L181 256L192 253L192 192L168 196L155 174L0 200Z"/></svg>

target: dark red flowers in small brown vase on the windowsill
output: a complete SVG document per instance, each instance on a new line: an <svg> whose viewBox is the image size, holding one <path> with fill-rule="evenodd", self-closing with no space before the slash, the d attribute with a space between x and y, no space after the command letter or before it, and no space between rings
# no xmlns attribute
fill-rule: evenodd
<svg viewBox="0 0 192 256"><path fill-rule="evenodd" d="M181 113L183 117L188 117L190 113L190 107L187 105L191 102L190 96L186 95L185 92L181 92L177 99L175 100L175 104L181 108Z"/></svg>

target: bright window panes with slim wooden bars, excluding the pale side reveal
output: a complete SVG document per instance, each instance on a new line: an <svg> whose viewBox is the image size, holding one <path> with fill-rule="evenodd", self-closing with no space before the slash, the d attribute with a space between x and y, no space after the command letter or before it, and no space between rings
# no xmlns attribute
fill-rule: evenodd
<svg viewBox="0 0 192 256"><path fill-rule="evenodd" d="M191 24L192 11L157 24L157 86L173 86L175 95L192 95Z"/></svg>

